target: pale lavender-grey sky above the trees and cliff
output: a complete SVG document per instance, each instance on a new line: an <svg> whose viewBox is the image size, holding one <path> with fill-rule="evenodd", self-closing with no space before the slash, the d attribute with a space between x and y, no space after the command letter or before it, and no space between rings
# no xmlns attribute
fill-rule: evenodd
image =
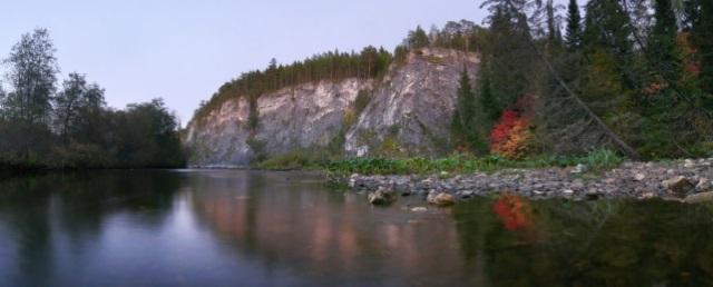
<svg viewBox="0 0 713 287"><path fill-rule="evenodd" d="M162 97L185 125L241 72L368 44L392 50L417 24L480 23L475 0L21 0L0 4L0 58L48 28L61 68L106 88L109 106ZM3 67L7 69L7 67ZM4 73L4 71L2 72ZM2 78L4 81L4 77ZM7 85L6 90L7 90Z"/></svg>

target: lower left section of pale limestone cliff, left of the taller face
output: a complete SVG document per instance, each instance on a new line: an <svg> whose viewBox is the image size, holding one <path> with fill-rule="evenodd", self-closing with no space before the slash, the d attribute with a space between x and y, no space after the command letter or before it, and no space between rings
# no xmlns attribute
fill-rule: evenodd
<svg viewBox="0 0 713 287"><path fill-rule="evenodd" d="M297 149L324 147L343 126L346 108L370 80L321 81L281 89L257 99L258 126L254 135L261 152L277 156ZM192 121L185 142L194 167L246 166L255 156L251 139L250 101L224 102L201 122Z"/></svg>

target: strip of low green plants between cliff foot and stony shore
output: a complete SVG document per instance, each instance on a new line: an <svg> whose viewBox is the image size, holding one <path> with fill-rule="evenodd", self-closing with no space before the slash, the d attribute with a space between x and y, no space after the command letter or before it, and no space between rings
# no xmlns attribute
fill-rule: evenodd
<svg viewBox="0 0 713 287"><path fill-rule="evenodd" d="M333 175L424 175L447 171L468 174L492 172L511 168L549 168L585 165L590 172L600 172L615 167L624 158L611 150L595 150L584 156L538 156L526 160L508 160L499 156L451 156L429 159L413 158L353 158L339 159L318 156L315 152L291 152L257 165L262 169L320 169Z"/></svg>

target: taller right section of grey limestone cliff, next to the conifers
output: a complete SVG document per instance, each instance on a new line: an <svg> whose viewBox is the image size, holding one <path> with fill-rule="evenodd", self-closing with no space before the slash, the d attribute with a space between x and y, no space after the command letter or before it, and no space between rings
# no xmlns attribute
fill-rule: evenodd
<svg viewBox="0 0 713 287"><path fill-rule="evenodd" d="M369 106L346 133L346 154L361 157L384 148L404 155L443 152L460 73L466 67L475 79L479 62L476 55L445 49L411 53L375 87Z"/></svg>

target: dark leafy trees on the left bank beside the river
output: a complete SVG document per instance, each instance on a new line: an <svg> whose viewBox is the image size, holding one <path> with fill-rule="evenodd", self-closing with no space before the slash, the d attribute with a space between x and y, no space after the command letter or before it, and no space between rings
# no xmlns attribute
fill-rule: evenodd
<svg viewBox="0 0 713 287"><path fill-rule="evenodd" d="M46 29L23 34L0 87L0 169L179 167L178 121L163 100L106 106L104 89L69 73L57 83L55 48Z"/></svg>

